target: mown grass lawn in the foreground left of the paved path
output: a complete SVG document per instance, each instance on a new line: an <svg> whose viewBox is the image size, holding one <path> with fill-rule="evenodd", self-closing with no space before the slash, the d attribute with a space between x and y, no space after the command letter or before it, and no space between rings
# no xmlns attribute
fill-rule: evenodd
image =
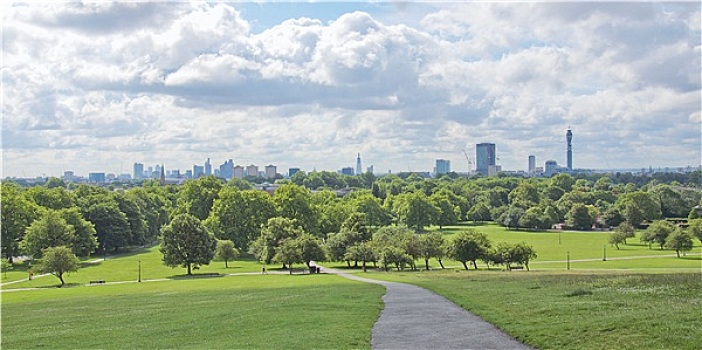
<svg viewBox="0 0 702 350"><path fill-rule="evenodd" d="M367 349L384 288L228 276L2 294L3 349Z"/></svg>

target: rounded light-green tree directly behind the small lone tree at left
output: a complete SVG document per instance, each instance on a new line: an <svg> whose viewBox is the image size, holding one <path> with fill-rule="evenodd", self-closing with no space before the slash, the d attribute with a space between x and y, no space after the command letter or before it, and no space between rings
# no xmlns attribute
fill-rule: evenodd
<svg viewBox="0 0 702 350"><path fill-rule="evenodd" d="M74 240L75 228L69 225L59 212L47 210L27 228L27 235L21 247L34 258L41 258L44 249L70 246Z"/></svg>

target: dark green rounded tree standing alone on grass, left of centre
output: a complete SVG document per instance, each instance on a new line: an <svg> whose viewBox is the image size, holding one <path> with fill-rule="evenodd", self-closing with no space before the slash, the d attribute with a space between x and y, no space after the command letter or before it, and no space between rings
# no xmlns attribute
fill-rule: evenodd
<svg viewBox="0 0 702 350"><path fill-rule="evenodd" d="M160 251L164 264L185 267L188 275L192 275L192 267L209 265L216 247L217 240L191 214L176 215L161 229Z"/></svg>

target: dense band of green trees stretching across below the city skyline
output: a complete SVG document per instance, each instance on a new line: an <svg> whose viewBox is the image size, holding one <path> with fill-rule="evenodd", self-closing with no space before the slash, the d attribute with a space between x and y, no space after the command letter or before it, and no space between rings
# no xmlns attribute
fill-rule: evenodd
<svg viewBox="0 0 702 350"><path fill-rule="evenodd" d="M358 214L363 214L371 235L388 226L423 232L428 226L441 228L464 220L492 220L515 229L550 228L556 223L575 229L625 222L637 227L661 218L701 217L700 188L689 183L699 177L696 173L670 174L668 183L646 177L638 186L622 182L632 180L623 175L594 180L568 174L533 179L450 174L424 179L416 174L376 178L370 173L345 177L300 172L290 180L278 180L281 186L273 195L252 189L245 180L225 182L213 176L182 186L147 181L126 189L71 186L59 179L23 188L3 181L2 256L41 257L42 249L53 246L85 256L155 243L162 227L181 214L197 218L217 239L230 240L241 251L259 249L259 254L256 242L273 218L292 220L302 232L326 239L330 253L338 244L335 240L346 239L340 238L345 235L344 223ZM344 197L332 191L350 184L355 190ZM273 256L274 250L265 260Z"/></svg>

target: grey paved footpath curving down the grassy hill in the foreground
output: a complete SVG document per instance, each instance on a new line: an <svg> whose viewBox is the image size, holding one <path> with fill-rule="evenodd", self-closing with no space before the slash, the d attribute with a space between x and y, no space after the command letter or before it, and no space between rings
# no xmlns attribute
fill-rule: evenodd
<svg viewBox="0 0 702 350"><path fill-rule="evenodd" d="M385 286L385 308L373 326L373 349L530 349L446 298L410 284L378 281L323 269L348 279Z"/></svg>

